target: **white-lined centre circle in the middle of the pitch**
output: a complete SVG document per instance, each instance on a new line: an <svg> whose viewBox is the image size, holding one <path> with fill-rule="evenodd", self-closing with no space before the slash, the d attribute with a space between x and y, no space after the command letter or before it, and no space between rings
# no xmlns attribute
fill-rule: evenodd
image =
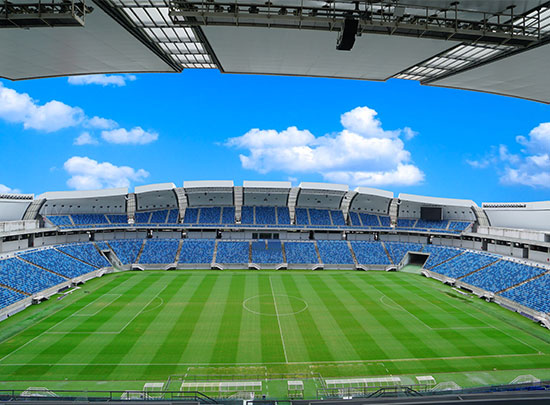
<svg viewBox="0 0 550 405"><path fill-rule="evenodd" d="M307 302L286 294L261 294L243 301L243 308L256 315L288 316L304 312Z"/></svg>

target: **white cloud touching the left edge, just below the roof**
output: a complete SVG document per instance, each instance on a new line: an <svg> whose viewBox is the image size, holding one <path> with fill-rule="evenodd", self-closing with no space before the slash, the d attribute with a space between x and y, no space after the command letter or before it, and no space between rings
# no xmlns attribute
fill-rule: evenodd
<svg viewBox="0 0 550 405"><path fill-rule="evenodd" d="M79 125L85 116L82 109L57 100L39 105L27 93L18 93L0 83L0 118L21 123L25 129L55 132Z"/></svg>

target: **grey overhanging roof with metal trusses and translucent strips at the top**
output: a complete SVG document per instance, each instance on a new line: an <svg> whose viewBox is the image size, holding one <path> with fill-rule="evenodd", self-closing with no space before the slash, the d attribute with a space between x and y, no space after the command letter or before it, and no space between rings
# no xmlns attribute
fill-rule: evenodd
<svg viewBox="0 0 550 405"><path fill-rule="evenodd" d="M95 0L27 19L21 3L0 6L0 27L29 28L0 30L0 77L14 80L213 68L401 78L550 103L548 1ZM346 25L354 44L338 51Z"/></svg>

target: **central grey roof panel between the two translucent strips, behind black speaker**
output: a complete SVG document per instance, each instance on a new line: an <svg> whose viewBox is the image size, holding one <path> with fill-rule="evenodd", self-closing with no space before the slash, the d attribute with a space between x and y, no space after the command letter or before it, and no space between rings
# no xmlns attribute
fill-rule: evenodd
<svg viewBox="0 0 550 405"><path fill-rule="evenodd" d="M251 27L203 27L224 72L386 80L453 41L363 35L337 51L336 32Z"/></svg>

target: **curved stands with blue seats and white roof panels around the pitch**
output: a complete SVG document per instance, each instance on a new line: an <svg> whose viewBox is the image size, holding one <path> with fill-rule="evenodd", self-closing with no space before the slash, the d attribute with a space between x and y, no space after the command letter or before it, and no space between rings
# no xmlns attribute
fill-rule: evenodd
<svg viewBox="0 0 550 405"><path fill-rule="evenodd" d="M550 325L550 203L186 181L0 196L1 318L113 270L422 273Z"/></svg>

